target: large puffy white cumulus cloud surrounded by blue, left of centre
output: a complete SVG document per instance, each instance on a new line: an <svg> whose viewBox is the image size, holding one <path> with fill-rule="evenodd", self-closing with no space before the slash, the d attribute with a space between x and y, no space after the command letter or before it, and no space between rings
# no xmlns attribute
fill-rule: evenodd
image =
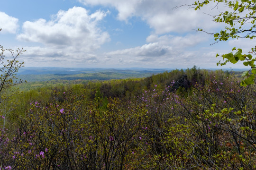
<svg viewBox="0 0 256 170"><path fill-rule="evenodd" d="M109 34L97 27L107 13L98 10L89 15L81 7L60 10L50 21L42 18L34 22L26 21L22 26L23 33L17 38L20 41L43 43L48 48L72 47L73 50L93 51L110 40Z"/></svg>

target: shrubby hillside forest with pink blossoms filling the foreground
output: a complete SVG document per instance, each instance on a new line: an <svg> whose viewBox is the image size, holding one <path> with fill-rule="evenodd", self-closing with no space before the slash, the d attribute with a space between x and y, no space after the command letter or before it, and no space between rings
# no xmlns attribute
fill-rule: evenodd
<svg viewBox="0 0 256 170"><path fill-rule="evenodd" d="M256 169L256 84L240 75L193 67L14 87L1 102L0 169Z"/></svg>

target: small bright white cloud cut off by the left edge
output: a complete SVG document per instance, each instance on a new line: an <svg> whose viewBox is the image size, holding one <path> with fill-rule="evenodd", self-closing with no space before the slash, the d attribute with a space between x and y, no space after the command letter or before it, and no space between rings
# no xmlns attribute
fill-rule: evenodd
<svg viewBox="0 0 256 170"><path fill-rule="evenodd" d="M18 19L15 17L10 17L4 12L0 12L0 28L2 31L0 33L11 33L15 34L18 30Z"/></svg>

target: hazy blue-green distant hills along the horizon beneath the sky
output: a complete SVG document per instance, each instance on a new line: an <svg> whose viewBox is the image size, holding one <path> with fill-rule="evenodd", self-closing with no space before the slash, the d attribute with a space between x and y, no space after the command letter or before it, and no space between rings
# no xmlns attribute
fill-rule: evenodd
<svg viewBox="0 0 256 170"><path fill-rule="evenodd" d="M27 82L50 80L110 80L125 78L141 78L153 74L171 71L162 68L55 68L24 67L18 70L17 77ZM184 69L185 70L185 69ZM209 69L210 70L210 69ZM216 69L211 69L216 70ZM231 71L231 69L223 69ZM234 69L243 71L244 69Z"/></svg>

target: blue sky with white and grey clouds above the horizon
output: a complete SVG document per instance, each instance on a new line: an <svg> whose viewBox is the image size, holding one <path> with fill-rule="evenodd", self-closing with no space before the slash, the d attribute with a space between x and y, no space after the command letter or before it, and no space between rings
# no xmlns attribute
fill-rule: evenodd
<svg viewBox="0 0 256 170"><path fill-rule="evenodd" d="M214 45L225 25L210 15L214 4L195 11L194 0L1 0L0 45L24 48L25 67L245 68L218 66L216 54L233 47L247 52L255 40ZM210 15L209 15L210 14ZM7 58L9 53L5 53Z"/></svg>

